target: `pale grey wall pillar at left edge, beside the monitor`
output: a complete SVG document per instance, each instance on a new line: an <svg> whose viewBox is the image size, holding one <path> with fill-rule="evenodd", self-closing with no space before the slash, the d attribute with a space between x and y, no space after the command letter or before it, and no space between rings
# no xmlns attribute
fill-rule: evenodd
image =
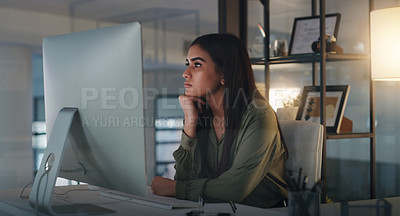
<svg viewBox="0 0 400 216"><path fill-rule="evenodd" d="M0 189L33 176L31 52L0 45Z"/></svg>

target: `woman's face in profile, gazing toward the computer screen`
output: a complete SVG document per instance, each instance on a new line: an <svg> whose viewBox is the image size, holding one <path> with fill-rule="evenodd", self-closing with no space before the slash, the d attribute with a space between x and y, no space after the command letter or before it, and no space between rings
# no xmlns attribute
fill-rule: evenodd
<svg viewBox="0 0 400 216"><path fill-rule="evenodd" d="M207 97L223 90L223 75L217 74L211 56L200 46L190 47L186 66L187 69L182 74L185 78L185 95Z"/></svg>

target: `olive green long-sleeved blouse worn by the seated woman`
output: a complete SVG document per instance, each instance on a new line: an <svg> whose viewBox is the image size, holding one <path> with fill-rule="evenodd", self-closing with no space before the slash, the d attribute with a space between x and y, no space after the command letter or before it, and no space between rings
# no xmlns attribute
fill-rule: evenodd
<svg viewBox="0 0 400 216"><path fill-rule="evenodd" d="M263 208L287 198L283 178L285 148L275 113L266 101L257 99L247 105L232 144L231 167L218 178L199 178L201 160L207 160L208 167L203 169L209 169L205 173L211 176L222 157L224 137L217 140L212 124L210 130L198 131L195 138L182 133L181 139L173 154L176 198L197 201L202 194L214 200ZM207 145L207 158L200 157L199 145Z"/></svg>

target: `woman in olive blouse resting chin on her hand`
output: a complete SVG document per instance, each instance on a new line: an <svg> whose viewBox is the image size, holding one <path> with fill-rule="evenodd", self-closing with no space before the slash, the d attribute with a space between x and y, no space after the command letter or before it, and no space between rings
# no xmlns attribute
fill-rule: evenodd
<svg viewBox="0 0 400 216"><path fill-rule="evenodd" d="M229 34L209 34L190 46L181 145L175 180L155 177L155 194L197 201L281 206L287 151L276 116L255 86L246 48Z"/></svg>

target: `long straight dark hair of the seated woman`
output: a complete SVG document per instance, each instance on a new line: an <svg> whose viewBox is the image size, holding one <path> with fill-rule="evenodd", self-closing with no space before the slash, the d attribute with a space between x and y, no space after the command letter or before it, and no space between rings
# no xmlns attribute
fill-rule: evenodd
<svg viewBox="0 0 400 216"><path fill-rule="evenodd" d="M231 146L240 128L242 112L253 99L264 98L256 88L249 55L239 38L231 34L208 34L198 37L192 42L193 45L200 46L210 55L216 64L216 72L223 74L225 81L222 103L225 110L225 141L221 162L212 176L218 177L230 168ZM200 122L203 122L198 130L209 128L210 123L205 121L210 119L212 112L208 110L200 116ZM204 160L206 150L201 148L201 152L202 164L207 166Z"/></svg>

